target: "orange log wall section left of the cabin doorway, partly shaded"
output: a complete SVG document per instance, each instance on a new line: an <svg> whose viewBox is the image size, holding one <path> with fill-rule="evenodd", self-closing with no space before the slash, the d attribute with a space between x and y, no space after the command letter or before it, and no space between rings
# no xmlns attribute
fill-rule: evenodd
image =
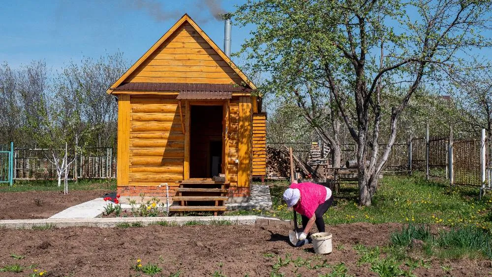
<svg viewBox="0 0 492 277"><path fill-rule="evenodd" d="M128 185L176 185L182 180L184 136L175 97L131 96Z"/></svg>

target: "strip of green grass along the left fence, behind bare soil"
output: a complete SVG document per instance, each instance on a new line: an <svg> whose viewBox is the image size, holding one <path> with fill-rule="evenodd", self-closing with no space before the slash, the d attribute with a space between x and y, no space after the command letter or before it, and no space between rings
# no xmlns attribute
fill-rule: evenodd
<svg viewBox="0 0 492 277"><path fill-rule="evenodd" d="M0 184L0 192L21 192L21 191L59 191L63 189L63 184L58 187L56 180L20 180L12 186ZM77 182L68 182L68 191L70 190L116 190L115 179L82 179Z"/></svg>

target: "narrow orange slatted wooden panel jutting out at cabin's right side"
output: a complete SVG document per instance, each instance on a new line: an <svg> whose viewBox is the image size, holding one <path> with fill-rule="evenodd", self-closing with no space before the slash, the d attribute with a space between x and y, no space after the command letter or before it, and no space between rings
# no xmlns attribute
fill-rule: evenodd
<svg viewBox="0 0 492 277"><path fill-rule="evenodd" d="M266 113L253 114L253 176L267 174L266 123Z"/></svg>

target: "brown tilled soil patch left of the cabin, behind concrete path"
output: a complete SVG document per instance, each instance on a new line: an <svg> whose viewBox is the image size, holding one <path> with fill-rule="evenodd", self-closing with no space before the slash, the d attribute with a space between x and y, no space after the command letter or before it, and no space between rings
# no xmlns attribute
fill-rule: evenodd
<svg viewBox="0 0 492 277"><path fill-rule="evenodd" d="M48 218L66 208L101 197L108 190L26 191L0 193L0 219Z"/></svg>

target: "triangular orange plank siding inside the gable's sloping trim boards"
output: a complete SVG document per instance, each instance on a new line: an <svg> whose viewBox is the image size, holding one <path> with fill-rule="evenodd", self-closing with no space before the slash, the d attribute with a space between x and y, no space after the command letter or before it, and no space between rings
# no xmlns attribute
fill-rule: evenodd
<svg viewBox="0 0 492 277"><path fill-rule="evenodd" d="M241 84L241 77L188 23L181 25L127 82Z"/></svg>

